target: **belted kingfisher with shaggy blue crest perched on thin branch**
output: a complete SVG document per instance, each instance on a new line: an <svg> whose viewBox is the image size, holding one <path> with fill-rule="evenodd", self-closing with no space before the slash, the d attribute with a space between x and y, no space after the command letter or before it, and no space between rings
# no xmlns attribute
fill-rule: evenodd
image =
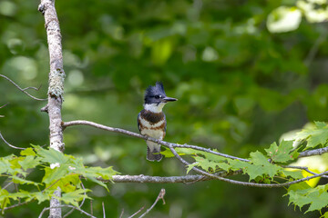
<svg viewBox="0 0 328 218"><path fill-rule="evenodd" d="M144 109L138 114L138 130L140 134L163 140L166 134L166 118L162 109L168 102L177 101L176 98L168 97L164 92L163 84L157 82L154 86L149 85L145 93ZM160 161L160 144L150 141L147 143L147 160Z"/></svg>

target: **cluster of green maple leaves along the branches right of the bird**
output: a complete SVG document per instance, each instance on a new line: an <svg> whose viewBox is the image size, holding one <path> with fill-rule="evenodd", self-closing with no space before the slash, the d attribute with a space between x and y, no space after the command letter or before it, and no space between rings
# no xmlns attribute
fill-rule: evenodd
<svg viewBox="0 0 328 218"><path fill-rule="evenodd" d="M288 165L286 165L286 163L297 160L299 155L298 150L293 147L294 142L306 141L307 144L304 150L326 146L328 142L327 127L328 125L323 122L315 122L313 128L303 129L301 132L295 134L295 141L282 141L279 145L273 143L268 149L265 149L266 154L262 154L259 151L251 153L250 162L216 156L190 148L176 148L175 150L179 155L188 154L195 159L194 163L187 166L187 173L193 167L198 166L209 173L242 170L242 173L249 175L250 181L255 181L256 183L279 183L274 178L284 178L287 181L294 181L303 178L302 169L291 172L288 170ZM169 150L166 150L162 154L165 154L166 157L174 156ZM285 195L289 195L290 203L299 206L300 209L305 204L310 204L310 207L305 211L307 213L315 210L320 211L328 206L327 190L327 184L311 187L303 182L292 184L287 189Z"/></svg>

